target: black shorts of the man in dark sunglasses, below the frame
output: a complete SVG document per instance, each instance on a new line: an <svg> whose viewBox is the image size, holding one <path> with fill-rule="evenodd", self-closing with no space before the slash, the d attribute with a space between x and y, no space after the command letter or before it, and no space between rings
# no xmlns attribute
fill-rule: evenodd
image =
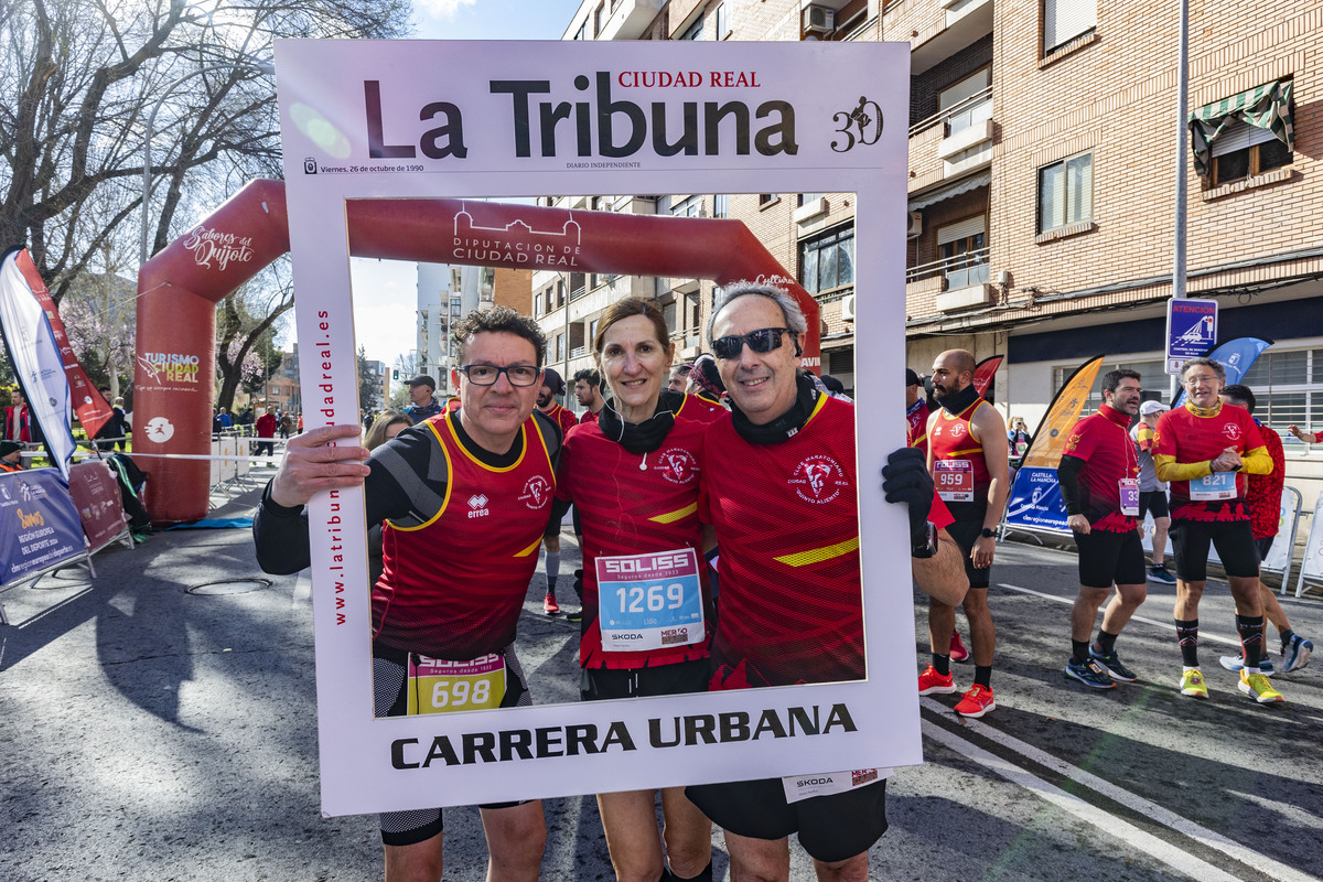
<svg viewBox="0 0 1323 882"><path fill-rule="evenodd" d="M684 791L717 826L755 840L799 834L819 861L863 854L886 832L886 780L844 793L786 801L779 778L726 784L693 784Z"/></svg>

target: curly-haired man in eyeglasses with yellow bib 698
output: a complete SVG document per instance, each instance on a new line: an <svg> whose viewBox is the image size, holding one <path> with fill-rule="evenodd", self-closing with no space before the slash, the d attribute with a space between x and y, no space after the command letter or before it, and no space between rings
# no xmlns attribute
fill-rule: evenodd
<svg viewBox="0 0 1323 882"><path fill-rule="evenodd" d="M385 522L384 573L372 586L377 717L532 703L513 643L561 451L560 427L534 413L546 340L505 307L470 313L454 337L458 411L406 428L370 459L351 440L359 426L294 438L253 522L262 569L296 573L310 561L303 506L320 491L363 484L366 525ZM429 706L438 690L460 694L447 680L474 684L463 690L472 701ZM541 803L480 808L487 878L536 879ZM382 813L381 838L388 882L441 879L439 808Z"/></svg>

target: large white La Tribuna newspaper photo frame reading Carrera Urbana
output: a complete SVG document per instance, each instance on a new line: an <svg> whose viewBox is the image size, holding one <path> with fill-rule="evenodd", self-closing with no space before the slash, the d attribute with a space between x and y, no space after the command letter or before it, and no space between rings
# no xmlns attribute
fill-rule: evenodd
<svg viewBox="0 0 1323 882"><path fill-rule="evenodd" d="M856 311L865 341L856 373L897 378L859 390L864 681L373 719L363 491L314 499L323 812L922 762L910 581L884 566L908 559L909 530L877 477L905 443L908 45L278 41L275 53L298 339L308 353L300 380L320 390L304 410L308 428L357 422L353 198L857 193L856 241L869 245L856 254L868 291ZM574 120L540 132L541 107L554 102ZM742 104L736 115L747 127L708 127L692 155L655 151L659 112L673 140L687 110L703 126L689 108L709 104ZM532 686L536 696L536 677ZM759 721L783 737L765 727L753 738Z"/></svg>

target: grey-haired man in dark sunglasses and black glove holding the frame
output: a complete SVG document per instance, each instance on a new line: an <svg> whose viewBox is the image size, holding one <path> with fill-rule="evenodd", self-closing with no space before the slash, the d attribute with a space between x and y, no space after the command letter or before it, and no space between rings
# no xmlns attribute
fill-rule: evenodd
<svg viewBox="0 0 1323 882"><path fill-rule="evenodd" d="M807 327L783 288L751 282L726 286L708 324L732 403L700 463L699 513L721 549L713 690L865 676L855 407L799 369ZM959 603L959 557L943 524L929 522L922 456L904 448L884 475L888 501L909 504L916 581ZM841 789L811 799L775 778L687 793L725 828L732 878L787 879L796 833L819 879L867 879L868 849L886 830L885 778L832 778Z"/></svg>

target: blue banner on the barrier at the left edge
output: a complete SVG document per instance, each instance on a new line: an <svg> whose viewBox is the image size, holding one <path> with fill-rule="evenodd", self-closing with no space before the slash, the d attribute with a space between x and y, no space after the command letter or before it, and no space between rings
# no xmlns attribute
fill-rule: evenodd
<svg viewBox="0 0 1323 882"><path fill-rule="evenodd" d="M85 549L78 509L58 469L0 473L0 584L81 557Z"/></svg>

